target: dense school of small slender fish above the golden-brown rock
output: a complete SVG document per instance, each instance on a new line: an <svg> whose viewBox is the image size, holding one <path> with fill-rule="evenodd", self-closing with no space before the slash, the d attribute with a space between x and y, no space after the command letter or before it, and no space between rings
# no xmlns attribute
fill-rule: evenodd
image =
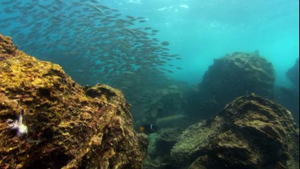
<svg viewBox="0 0 300 169"><path fill-rule="evenodd" d="M170 54L169 42L155 38L158 30L139 27L146 18L123 15L99 1L0 4L0 32L9 30L19 49L62 65L80 84L118 87L133 104L152 97L138 94L145 93L143 87L159 86L168 79L165 73L182 69L170 64L181 58Z"/></svg>

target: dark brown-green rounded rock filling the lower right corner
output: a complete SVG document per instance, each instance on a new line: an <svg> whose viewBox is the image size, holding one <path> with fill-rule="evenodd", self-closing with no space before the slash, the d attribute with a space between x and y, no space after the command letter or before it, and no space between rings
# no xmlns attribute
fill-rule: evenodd
<svg viewBox="0 0 300 169"><path fill-rule="evenodd" d="M242 96L185 130L171 155L178 168L299 168L299 127L282 106Z"/></svg>

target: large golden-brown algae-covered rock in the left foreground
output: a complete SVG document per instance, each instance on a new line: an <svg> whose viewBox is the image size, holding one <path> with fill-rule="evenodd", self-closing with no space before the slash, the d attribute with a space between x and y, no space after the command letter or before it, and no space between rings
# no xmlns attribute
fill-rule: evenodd
<svg viewBox="0 0 300 169"><path fill-rule="evenodd" d="M87 94L0 35L0 168L142 168L146 136L134 132L122 92L97 85ZM27 134L17 137L8 123L21 111Z"/></svg>

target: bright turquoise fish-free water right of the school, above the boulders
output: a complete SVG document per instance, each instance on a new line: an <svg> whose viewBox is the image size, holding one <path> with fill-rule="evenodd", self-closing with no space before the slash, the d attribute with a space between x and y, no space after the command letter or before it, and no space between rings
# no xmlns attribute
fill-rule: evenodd
<svg viewBox="0 0 300 169"><path fill-rule="evenodd" d="M66 4L72 2L61 1ZM23 5L29 2L22 1ZM39 1L39 4L50 2ZM259 50L262 56L273 63L277 85L290 86L285 73L299 57L299 1L103 0L99 4L118 9L123 15L146 18L146 23L137 24L135 27L150 26L160 30L156 37L170 42L170 51L182 57L182 60L173 61L172 64L182 67L183 70L174 70L175 73L168 74L171 78L196 84L201 82L201 77L213 63L213 58L234 51ZM7 6L9 4L0 6L0 9ZM20 13L2 11L0 15L0 19L5 20L20 16ZM24 19L23 23L30 20ZM11 30L17 25L11 22L10 27L0 26L0 32L13 37L16 44L18 37ZM23 31L26 34L26 29ZM26 52L26 47L18 45ZM34 52L32 55L41 57Z"/></svg>

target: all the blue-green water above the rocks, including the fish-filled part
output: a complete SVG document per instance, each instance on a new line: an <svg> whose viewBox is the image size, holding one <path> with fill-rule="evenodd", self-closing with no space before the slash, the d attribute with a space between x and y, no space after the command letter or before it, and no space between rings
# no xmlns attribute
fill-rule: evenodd
<svg viewBox="0 0 300 169"><path fill-rule="evenodd" d="M58 63L82 85L104 83L122 89L141 123L149 123L142 118L157 108L172 84L168 78L196 86L213 59L235 51L258 50L274 65L277 91L293 88L286 73L299 58L297 0L0 2L0 32L13 37L20 50ZM142 19L131 23L132 17ZM159 32L151 35L152 29L145 27ZM170 46L160 51L165 41ZM170 57L173 54L181 59ZM292 97L275 100L299 121L299 87L294 89Z"/></svg>

